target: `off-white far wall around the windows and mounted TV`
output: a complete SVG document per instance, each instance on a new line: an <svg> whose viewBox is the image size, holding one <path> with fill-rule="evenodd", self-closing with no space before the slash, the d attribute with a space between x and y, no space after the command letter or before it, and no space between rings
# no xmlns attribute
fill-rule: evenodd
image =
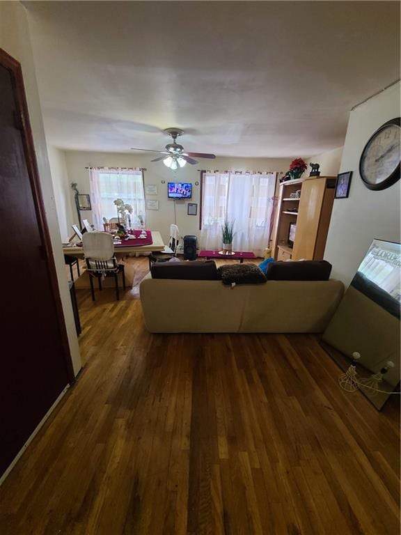
<svg viewBox="0 0 401 535"><path fill-rule="evenodd" d="M155 155L156 157L157 155ZM162 237L165 242L168 241L168 231L170 224L174 222L174 201L167 199L167 182L190 182L192 183L192 199L191 201L175 201L176 224L180 228L180 233L195 234L199 237L199 201L200 201L200 186L196 186L196 182L200 182L201 173L199 169L219 169L221 171L287 171L291 159L290 158L217 158L216 160L200 160L197 165L187 164L183 169L178 171L171 171L163 162L150 162L152 155L148 154L126 154L126 153L86 153L76 151L65 152L65 162L68 170L69 182L77 182L79 193L90 193L89 173L85 169L86 166L132 166L144 167L145 171L145 185L155 184L158 188L158 194L155 196L148 196L148 199L159 200L159 210L146 212L146 226L153 230L162 232ZM162 180L166 183L162 184ZM72 199L72 190L70 189L70 199ZM187 203L198 204L198 215L187 215ZM85 212L85 217L92 222L92 212ZM76 216L74 216L77 219Z"/></svg>

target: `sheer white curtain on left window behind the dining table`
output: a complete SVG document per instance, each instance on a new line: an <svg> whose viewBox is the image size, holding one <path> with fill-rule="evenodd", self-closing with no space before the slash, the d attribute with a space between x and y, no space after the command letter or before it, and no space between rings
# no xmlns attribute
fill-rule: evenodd
<svg viewBox="0 0 401 535"><path fill-rule="evenodd" d="M91 203L93 224L103 230L103 217L117 217L114 201L123 199L133 208L132 226L145 223L145 192L143 190L143 173L139 169L91 169Z"/></svg>

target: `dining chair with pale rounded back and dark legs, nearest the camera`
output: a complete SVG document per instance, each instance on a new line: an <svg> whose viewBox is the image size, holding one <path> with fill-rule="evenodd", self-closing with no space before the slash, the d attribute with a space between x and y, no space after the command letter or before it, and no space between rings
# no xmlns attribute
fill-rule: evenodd
<svg viewBox="0 0 401 535"><path fill-rule="evenodd" d="M93 279L97 279L99 289L102 290L102 279L104 277L114 277L116 281L116 298L119 300L118 274L123 274L123 288L125 290L125 269L124 265L119 264L116 256L114 256L113 236L106 232L86 232L82 236L82 245L86 270L91 284L92 300L95 301Z"/></svg>

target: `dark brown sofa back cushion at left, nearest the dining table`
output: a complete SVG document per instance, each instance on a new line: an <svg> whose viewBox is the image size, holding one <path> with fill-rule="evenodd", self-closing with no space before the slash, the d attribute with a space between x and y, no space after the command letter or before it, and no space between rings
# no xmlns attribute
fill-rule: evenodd
<svg viewBox="0 0 401 535"><path fill-rule="evenodd" d="M219 281L216 263L212 260L193 262L155 262L150 268L152 279L182 281Z"/></svg>

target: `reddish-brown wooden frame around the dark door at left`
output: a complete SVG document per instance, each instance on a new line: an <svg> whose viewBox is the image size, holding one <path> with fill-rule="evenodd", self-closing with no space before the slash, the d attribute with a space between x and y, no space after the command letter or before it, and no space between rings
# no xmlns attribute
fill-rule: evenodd
<svg viewBox="0 0 401 535"><path fill-rule="evenodd" d="M40 187L38 164L36 162L35 146L33 144L31 123L29 121L28 104L26 103L22 68L19 61L14 59L12 56L10 56L10 54L1 48L0 64L10 72L13 83L18 112L15 120L17 123L19 123L18 127L22 134L26 168L28 170L29 183L31 185L33 203L35 205L39 233L42 242L42 255L45 257L47 274L49 276L54 306L56 308L58 328L60 329L61 347L63 348L63 361L67 370L68 381L70 382L70 385L73 385L75 382L74 368L72 366L70 344L68 342L68 334L65 327L63 304L61 303L61 295L58 288L52 242L50 240L49 227L47 226L47 220L45 216L45 203L43 202L42 190Z"/></svg>

